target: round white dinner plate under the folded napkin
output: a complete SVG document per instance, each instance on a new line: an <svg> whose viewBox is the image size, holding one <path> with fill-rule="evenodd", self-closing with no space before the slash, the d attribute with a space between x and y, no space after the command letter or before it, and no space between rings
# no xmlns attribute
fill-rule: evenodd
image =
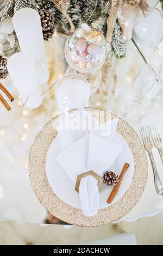
<svg viewBox="0 0 163 256"><path fill-rule="evenodd" d="M106 203L108 196L113 187L102 185L102 189L99 196L99 209L108 207L118 199L120 199L124 193L127 191L134 175L134 158L131 153L130 147L128 146L126 140L119 133L115 133L114 140L123 145L123 150L117 157L115 163L111 166L109 170L114 171L117 175L120 175L124 163L129 163L130 166L124 175L120 189L111 204ZM55 160L55 158L62 152L59 136L57 136L51 146L49 147L47 157L46 157L46 175L49 185L52 187L54 193L62 200L64 203L75 207L77 209L82 209L80 203L79 194L74 190L75 184L71 180L67 172L62 168L62 166Z"/></svg>

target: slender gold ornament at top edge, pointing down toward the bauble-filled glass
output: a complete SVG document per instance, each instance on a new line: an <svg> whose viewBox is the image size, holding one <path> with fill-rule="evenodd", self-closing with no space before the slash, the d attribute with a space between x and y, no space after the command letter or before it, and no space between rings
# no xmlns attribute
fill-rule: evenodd
<svg viewBox="0 0 163 256"><path fill-rule="evenodd" d="M73 33L75 27L73 25L71 17L67 14L67 9L70 6L71 0L49 0L50 2L54 3L57 9L66 17L68 22L70 23L70 32Z"/></svg>

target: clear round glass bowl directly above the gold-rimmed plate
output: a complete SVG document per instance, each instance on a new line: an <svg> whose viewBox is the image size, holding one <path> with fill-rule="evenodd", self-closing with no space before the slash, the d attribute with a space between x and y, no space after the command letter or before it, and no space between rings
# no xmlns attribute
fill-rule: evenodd
<svg viewBox="0 0 163 256"><path fill-rule="evenodd" d="M67 74L55 85L55 97L61 110L81 109L89 101L90 85L82 75Z"/></svg>

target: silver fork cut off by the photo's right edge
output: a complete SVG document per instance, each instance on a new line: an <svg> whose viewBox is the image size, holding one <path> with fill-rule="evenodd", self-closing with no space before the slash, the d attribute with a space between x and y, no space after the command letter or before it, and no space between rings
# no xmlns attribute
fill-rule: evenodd
<svg viewBox="0 0 163 256"><path fill-rule="evenodd" d="M163 150L162 150L162 141L161 141L161 135L160 135L160 129L158 122L152 123L150 126L148 126L148 130L151 134L153 145L158 148L160 158L162 160L163 164Z"/></svg>

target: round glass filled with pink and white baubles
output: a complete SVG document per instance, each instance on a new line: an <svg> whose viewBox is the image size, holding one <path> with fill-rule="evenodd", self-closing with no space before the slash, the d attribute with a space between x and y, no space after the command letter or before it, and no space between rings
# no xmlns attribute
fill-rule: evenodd
<svg viewBox="0 0 163 256"><path fill-rule="evenodd" d="M67 39L65 57L72 69L94 72L106 58L106 41L102 32L83 24Z"/></svg>

